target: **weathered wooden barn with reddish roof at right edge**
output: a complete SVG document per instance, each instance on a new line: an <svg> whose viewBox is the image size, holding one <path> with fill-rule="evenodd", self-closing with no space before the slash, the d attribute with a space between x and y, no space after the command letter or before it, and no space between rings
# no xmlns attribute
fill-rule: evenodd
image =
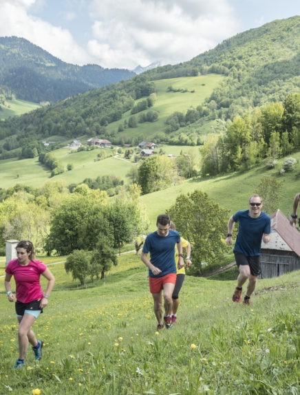
<svg viewBox="0 0 300 395"><path fill-rule="evenodd" d="M271 216L270 242L261 242L261 278L300 269L300 232L277 210Z"/></svg>

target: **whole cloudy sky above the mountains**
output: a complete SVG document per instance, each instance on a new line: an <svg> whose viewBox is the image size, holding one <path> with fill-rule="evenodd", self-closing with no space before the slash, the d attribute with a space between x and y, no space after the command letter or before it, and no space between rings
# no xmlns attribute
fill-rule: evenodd
<svg viewBox="0 0 300 395"><path fill-rule="evenodd" d="M224 39L300 14L297 0L0 0L0 36L76 65L189 61Z"/></svg>

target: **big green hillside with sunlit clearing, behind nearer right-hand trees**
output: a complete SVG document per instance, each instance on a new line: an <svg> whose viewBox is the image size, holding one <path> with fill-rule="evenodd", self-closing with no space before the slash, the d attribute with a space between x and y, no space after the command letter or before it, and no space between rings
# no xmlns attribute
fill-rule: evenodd
<svg viewBox="0 0 300 395"><path fill-rule="evenodd" d="M21 147L21 142L24 145L54 135L67 140L83 134L107 138L116 145L136 145L139 137L145 135L153 136L155 142L174 144L175 140L184 138L184 134L193 145L201 140L201 131L207 123L217 119L233 120L249 108L283 102L289 94L299 92L299 19L292 17L267 23L237 34L189 62L158 67L127 81L84 92L9 122L1 122L0 149L8 139L12 144L7 145L4 153L12 149L10 146L15 149L18 143ZM216 74L219 80L215 79ZM185 78L185 82L177 83L173 78ZM201 78L205 85L199 86ZM164 82L158 83L159 80ZM172 84L173 91L162 95ZM186 84L187 92L174 95L176 86L181 88ZM152 108L149 100L153 94L162 95L165 102L156 103L157 107ZM201 98L197 98L198 95ZM147 111L157 110L158 120L153 124L138 122L138 127L131 127L127 125L129 112L140 100L147 102ZM178 128L171 127L169 134L166 133L164 116L167 112L180 111L185 116L186 109L191 105L195 107L195 103L199 107L197 119L180 122ZM120 126L124 126L124 130L120 131Z"/></svg>

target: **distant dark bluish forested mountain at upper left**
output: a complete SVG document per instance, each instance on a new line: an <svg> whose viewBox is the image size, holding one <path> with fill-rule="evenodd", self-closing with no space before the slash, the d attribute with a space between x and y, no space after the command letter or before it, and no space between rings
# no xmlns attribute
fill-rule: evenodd
<svg viewBox="0 0 300 395"><path fill-rule="evenodd" d="M0 37L0 85L22 100L56 102L131 78L129 70L65 63L19 37Z"/></svg>

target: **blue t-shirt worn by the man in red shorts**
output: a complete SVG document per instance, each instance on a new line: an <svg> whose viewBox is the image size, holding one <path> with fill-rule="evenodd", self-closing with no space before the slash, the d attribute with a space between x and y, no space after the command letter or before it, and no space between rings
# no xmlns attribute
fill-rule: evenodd
<svg viewBox="0 0 300 395"><path fill-rule="evenodd" d="M180 234L171 229L167 236L160 236L157 232L147 235L142 252L150 253L151 264L162 270L159 275L155 276L149 269L149 277L162 277L169 273L176 273L174 248L179 242Z"/></svg>

